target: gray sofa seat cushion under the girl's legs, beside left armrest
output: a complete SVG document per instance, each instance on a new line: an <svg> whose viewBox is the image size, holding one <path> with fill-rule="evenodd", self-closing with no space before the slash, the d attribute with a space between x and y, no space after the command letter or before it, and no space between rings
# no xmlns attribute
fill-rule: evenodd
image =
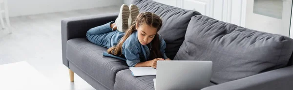
<svg viewBox="0 0 293 90"><path fill-rule="evenodd" d="M129 67L124 60L104 57L101 47L85 38L70 39L67 42L67 59L85 73L113 90L116 73Z"/></svg>

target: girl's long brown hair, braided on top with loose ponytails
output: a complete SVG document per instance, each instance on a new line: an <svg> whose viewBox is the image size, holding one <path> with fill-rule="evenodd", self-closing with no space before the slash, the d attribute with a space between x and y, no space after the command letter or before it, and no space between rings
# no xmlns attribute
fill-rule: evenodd
<svg viewBox="0 0 293 90"><path fill-rule="evenodd" d="M157 28L157 32L162 27L162 19L153 13L145 12L141 13L137 16L137 19L134 23L132 23L131 27L125 32L125 35L122 37L120 42L111 48L107 50L109 54L115 55L115 56L121 56L122 55L122 45L126 41L126 39L136 30L135 25L138 24L138 27L140 27L143 24L149 25L150 27ZM151 41L151 50L150 50L150 60L153 60L155 58L164 58L162 53L160 52L160 45L161 41L159 39L158 33L156 33L154 39Z"/></svg>

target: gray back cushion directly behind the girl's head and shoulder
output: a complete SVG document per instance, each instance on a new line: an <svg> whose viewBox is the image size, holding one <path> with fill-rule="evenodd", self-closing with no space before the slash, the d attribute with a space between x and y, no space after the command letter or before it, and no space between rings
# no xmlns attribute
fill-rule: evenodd
<svg viewBox="0 0 293 90"><path fill-rule="evenodd" d="M200 13L165 5L152 0L133 0L140 12L152 12L163 20L161 30L158 32L166 42L166 56L173 59L184 41L184 35L191 16Z"/></svg>

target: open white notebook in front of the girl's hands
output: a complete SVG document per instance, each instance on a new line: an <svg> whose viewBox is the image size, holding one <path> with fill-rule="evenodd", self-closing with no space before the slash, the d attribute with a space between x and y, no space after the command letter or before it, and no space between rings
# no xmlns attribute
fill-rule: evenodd
<svg viewBox="0 0 293 90"><path fill-rule="evenodd" d="M133 76L156 75L157 70L152 67L130 67Z"/></svg>

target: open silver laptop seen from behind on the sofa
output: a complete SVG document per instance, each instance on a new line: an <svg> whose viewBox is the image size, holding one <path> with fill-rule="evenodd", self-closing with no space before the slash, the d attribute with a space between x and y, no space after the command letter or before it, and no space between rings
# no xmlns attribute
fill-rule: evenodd
<svg viewBox="0 0 293 90"><path fill-rule="evenodd" d="M158 60L155 90L200 90L209 86L212 61Z"/></svg>

